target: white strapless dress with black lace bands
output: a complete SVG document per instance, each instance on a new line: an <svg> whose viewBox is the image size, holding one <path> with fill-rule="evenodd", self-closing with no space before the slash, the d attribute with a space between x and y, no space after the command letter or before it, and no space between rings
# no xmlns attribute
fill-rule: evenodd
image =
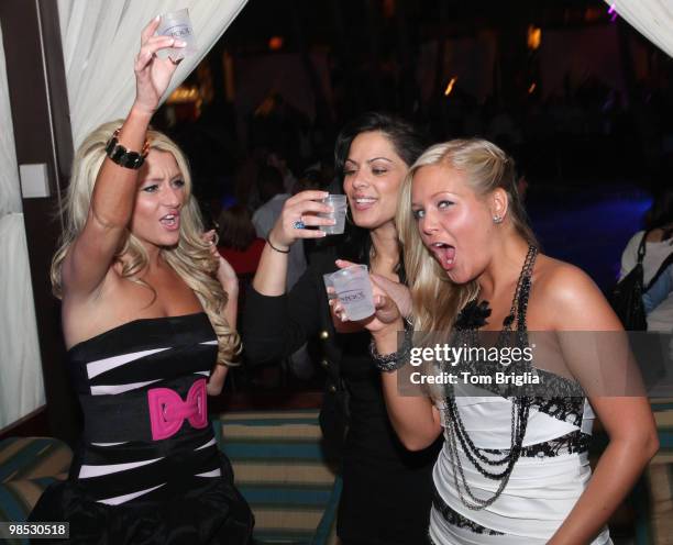
<svg viewBox="0 0 673 545"><path fill-rule="evenodd" d="M463 424L473 443L506 452L511 446L511 400L494 396L456 398ZM435 487L430 514L430 537L437 545L543 545L571 512L592 471L588 437L594 422L582 398L560 398L532 405L523 451L504 492L489 507L471 510L460 498L449 453L444 405L438 403L446 441L433 470ZM481 498L492 497L498 482L484 477L459 447L465 479ZM610 544L604 530L593 542Z"/></svg>

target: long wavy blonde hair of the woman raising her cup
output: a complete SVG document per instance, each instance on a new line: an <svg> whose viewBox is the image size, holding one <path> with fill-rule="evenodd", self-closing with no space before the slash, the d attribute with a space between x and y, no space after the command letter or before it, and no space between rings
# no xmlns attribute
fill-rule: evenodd
<svg viewBox="0 0 673 545"><path fill-rule="evenodd" d="M89 134L75 154L70 183L60 210L65 229L60 236L60 246L52 259L52 291L58 299L63 297L63 260L87 222L96 178L106 158L106 144L122 123L123 120L118 120L100 125ZM191 193L192 185L187 158L175 142L158 131L150 129L146 138L151 149L167 152L175 157L185 180L179 241L175 247L162 248L161 255L194 290L208 314L218 336L218 363L231 365L240 352L240 337L224 319L228 293L216 279L219 260L211 254L210 246L201 236L203 223L197 201ZM117 263L121 264L123 278L153 290L145 281L136 278L136 275L147 266L148 258L143 245L129 230L114 255L113 264Z"/></svg>

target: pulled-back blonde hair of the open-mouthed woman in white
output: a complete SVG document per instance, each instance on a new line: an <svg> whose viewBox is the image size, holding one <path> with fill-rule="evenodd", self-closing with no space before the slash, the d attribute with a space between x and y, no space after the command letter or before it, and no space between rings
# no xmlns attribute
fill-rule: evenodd
<svg viewBox="0 0 673 545"><path fill-rule="evenodd" d="M452 140L435 144L411 165L400 187L395 219L404 247L405 269L413 301L415 329L422 332L449 331L459 312L477 297L475 280L452 282L423 245L411 211L413 176L424 166L444 165L466 175L467 183L479 196L497 188L507 193L507 218L529 244L538 245L517 190L515 163L498 146L482 138Z"/></svg>

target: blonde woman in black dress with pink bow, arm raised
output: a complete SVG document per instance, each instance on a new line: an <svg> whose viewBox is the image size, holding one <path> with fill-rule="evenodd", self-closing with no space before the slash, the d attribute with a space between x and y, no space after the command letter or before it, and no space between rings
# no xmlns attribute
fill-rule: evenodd
<svg viewBox="0 0 673 545"><path fill-rule="evenodd" d="M85 427L70 475L31 521L73 543L246 544L252 514L218 451L207 397L238 352L238 283L203 233L187 160L150 127L180 47L142 32L125 120L77 151L52 267Z"/></svg>

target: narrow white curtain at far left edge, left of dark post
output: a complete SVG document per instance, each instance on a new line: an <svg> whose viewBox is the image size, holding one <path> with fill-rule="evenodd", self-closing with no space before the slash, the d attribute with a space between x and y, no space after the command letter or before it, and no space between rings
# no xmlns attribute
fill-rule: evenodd
<svg viewBox="0 0 673 545"><path fill-rule="evenodd" d="M37 324L0 29L0 429L44 404Z"/></svg>

